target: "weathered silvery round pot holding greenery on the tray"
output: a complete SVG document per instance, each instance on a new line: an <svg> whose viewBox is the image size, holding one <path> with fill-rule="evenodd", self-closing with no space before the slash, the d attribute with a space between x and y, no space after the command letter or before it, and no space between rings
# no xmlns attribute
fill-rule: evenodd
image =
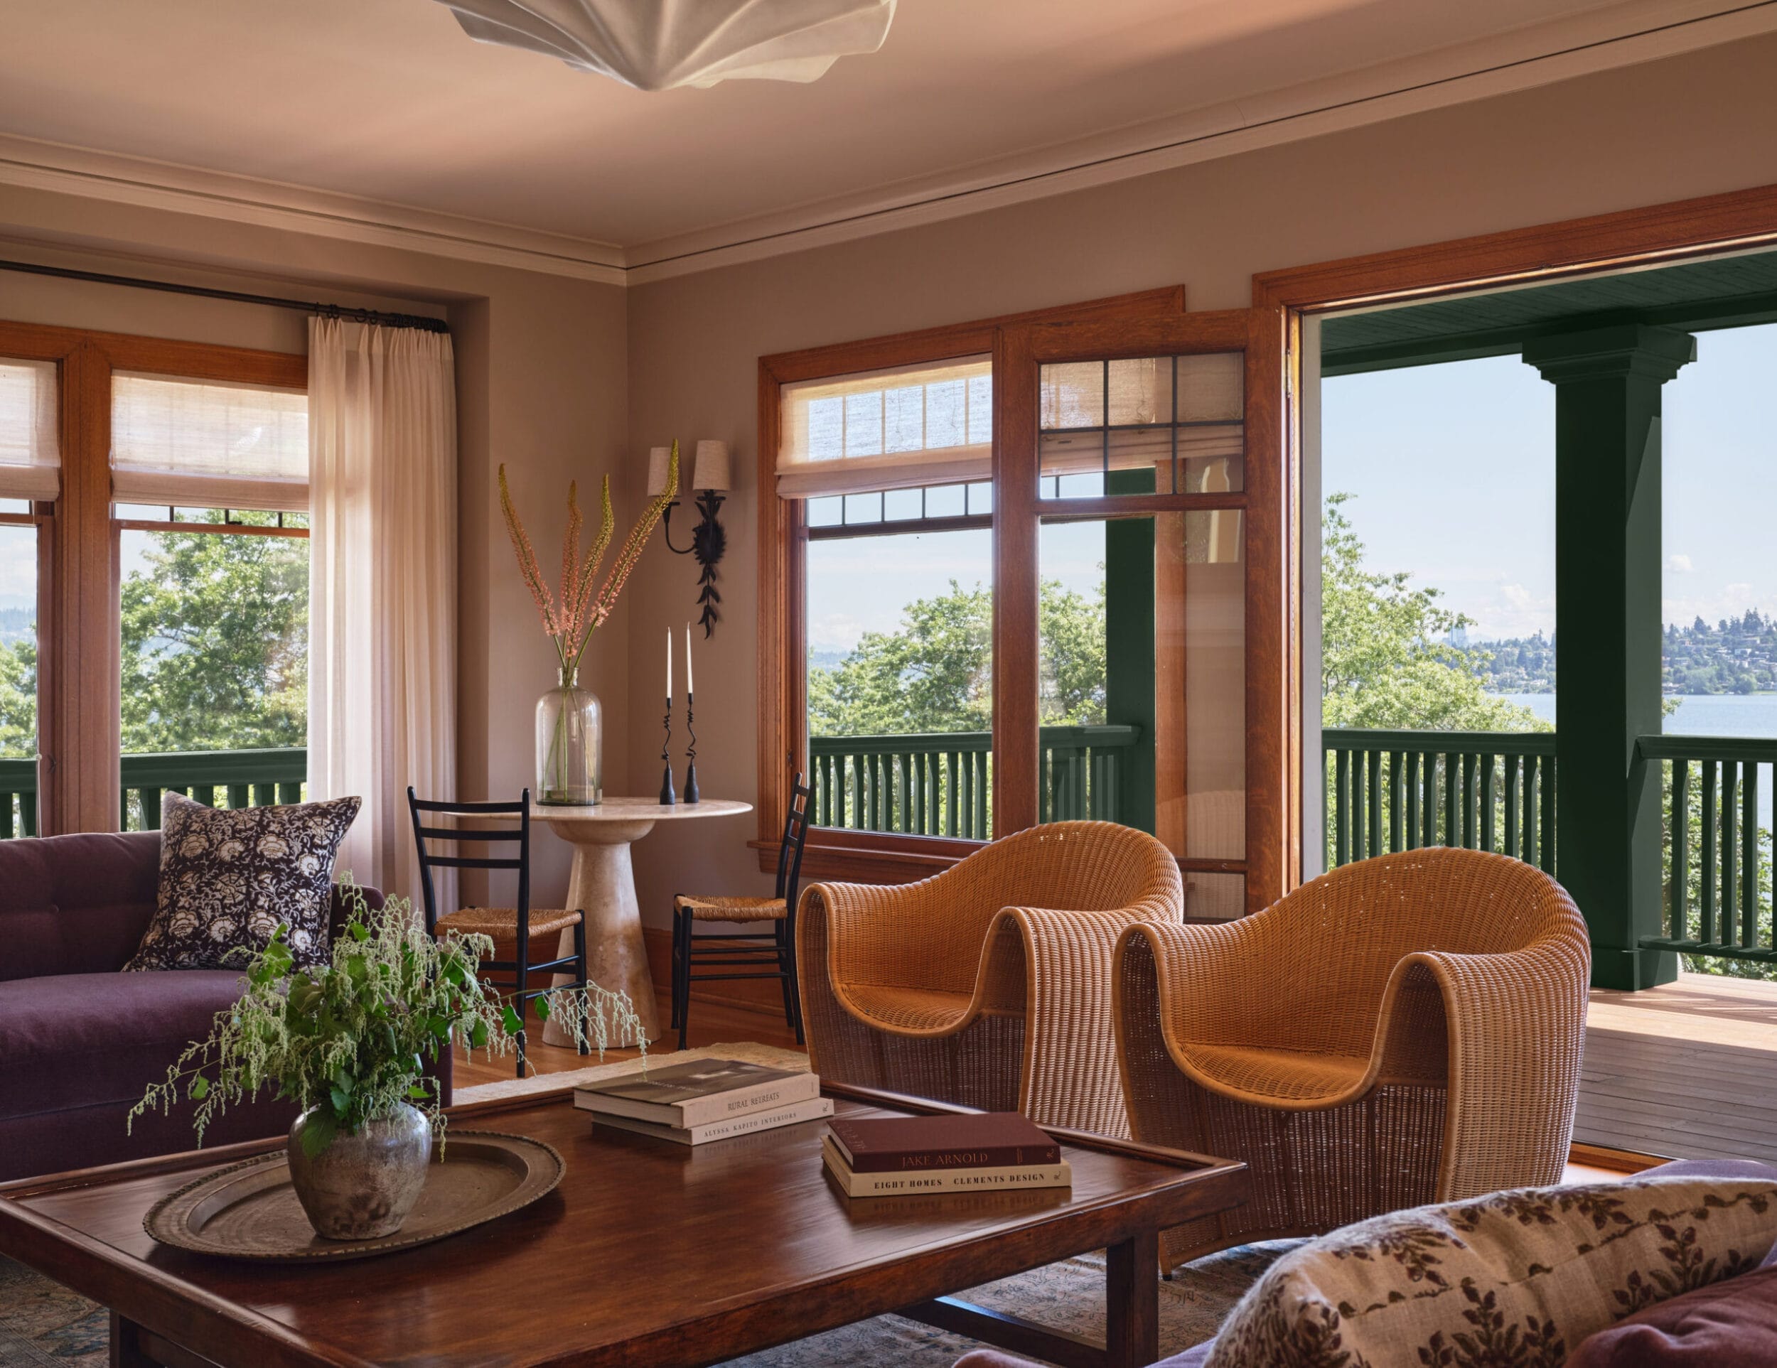
<svg viewBox="0 0 1777 1368"><path fill-rule="evenodd" d="M290 1126L290 1185L315 1233L323 1240L394 1235L426 1185L432 1123L418 1107L402 1103L355 1135L334 1135L309 1158L302 1132L316 1110L311 1107Z"/></svg>

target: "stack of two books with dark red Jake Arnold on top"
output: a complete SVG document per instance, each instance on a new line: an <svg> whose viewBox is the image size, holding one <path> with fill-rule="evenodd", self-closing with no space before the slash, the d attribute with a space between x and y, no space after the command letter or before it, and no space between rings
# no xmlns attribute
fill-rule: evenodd
<svg viewBox="0 0 1777 1368"><path fill-rule="evenodd" d="M1061 1146L1018 1112L842 1117L821 1157L851 1197L1073 1185Z"/></svg>

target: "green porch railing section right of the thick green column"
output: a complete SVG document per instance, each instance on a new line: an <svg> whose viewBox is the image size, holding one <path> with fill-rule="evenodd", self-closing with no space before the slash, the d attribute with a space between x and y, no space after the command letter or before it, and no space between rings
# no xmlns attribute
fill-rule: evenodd
<svg viewBox="0 0 1777 1368"><path fill-rule="evenodd" d="M1661 768L1665 798L1665 935L1640 943L1777 963L1772 833L1759 803L1759 768L1777 766L1777 741L1644 736L1635 744ZM1777 780L1777 769L1766 773Z"/></svg>

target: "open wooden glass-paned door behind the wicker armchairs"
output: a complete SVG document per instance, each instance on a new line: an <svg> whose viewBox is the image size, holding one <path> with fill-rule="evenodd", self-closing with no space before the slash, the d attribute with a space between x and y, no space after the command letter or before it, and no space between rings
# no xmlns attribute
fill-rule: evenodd
<svg viewBox="0 0 1777 1368"><path fill-rule="evenodd" d="M1009 780L995 828L1151 831L1203 919L1281 895L1292 830L1287 625L1269 592L1285 481L1253 455L1276 373L1255 336L1247 309L1015 325L993 366L993 750ZM1105 668L1086 698L1077 615L1054 604L1095 554Z"/></svg>

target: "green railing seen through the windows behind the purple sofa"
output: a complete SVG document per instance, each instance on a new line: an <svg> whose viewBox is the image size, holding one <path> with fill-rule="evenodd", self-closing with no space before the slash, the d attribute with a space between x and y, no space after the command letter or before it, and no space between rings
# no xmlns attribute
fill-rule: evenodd
<svg viewBox="0 0 1777 1368"><path fill-rule="evenodd" d="M307 773L309 753L304 746L124 755L123 830L160 830L160 799L167 792L222 808L300 803ZM0 839L34 835L37 762L0 760Z"/></svg>

